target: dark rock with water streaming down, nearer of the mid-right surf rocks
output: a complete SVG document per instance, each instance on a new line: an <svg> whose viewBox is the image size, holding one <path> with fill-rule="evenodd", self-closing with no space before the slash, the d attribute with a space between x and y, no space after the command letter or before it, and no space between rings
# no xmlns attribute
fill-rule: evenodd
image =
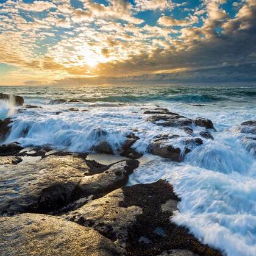
<svg viewBox="0 0 256 256"><path fill-rule="evenodd" d="M173 139L179 138L180 142L183 141L183 146L175 146ZM186 138L179 135L162 135L156 137L155 140L149 144L148 151L153 155L159 155L163 158L170 158L172 161L181 162L186 154L188 154L195 146L203 143L201 138Z"/></svg>

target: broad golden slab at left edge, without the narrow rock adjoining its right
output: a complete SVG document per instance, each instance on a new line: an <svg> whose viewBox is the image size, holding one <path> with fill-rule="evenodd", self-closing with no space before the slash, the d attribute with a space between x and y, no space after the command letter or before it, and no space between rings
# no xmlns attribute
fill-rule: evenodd
<svg viewBox="0 0 256 256"><path fill-rule="evenodd" d="M0 215L46 213L62 207L88 171L82 158L49 156L37 163L5 166L1 171Z"/></svg>

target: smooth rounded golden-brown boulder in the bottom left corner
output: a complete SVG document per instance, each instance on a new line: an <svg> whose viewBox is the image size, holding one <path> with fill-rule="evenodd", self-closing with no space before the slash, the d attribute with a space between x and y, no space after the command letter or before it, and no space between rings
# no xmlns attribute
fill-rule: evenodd
<svg viewBox="0 0 256 256"><path fill-rule="evenodd" d="M95 230L54 216L2 217L0 229L0 255L119 255Z"/></svg>

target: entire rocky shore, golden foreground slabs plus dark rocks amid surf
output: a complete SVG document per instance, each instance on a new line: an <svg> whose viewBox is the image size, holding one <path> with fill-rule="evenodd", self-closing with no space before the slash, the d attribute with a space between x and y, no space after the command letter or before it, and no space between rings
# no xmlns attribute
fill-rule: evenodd
<svg viewBox="0 0 256 256"><path fill-rule="evenodd" d="M12 99L16 105L24 104L18 96ZM60 102L66 101L50 104ZM182 162L204 140L214 140L216 129L209 119L186 118L166 108L143 111L148 122L177 127L186 134L156 135L148 145L153 155ZM12 118L0 121L1 141L8 137L12 122ZM193 127L200 132L194 135ZM238 127L248 134L243 143L253 154L255 127L255 121ZM134 133L126 135L117 152L104 140L93 145L94 152L125 157L110 165L90 160L87 153L2 143L0 255L221 255L172 221L180 199L171 184L158 180L126 186L143 155L132 147L138 140Z"/></svg>

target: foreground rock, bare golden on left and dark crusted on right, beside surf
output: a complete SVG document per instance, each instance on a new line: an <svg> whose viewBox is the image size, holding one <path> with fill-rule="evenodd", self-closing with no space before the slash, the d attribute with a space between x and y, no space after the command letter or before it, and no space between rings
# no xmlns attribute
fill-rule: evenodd
<svg viewBox="0 0 256 256"><path fill-rule="evenodd" d="M171 222L178 202L172 186L158 180L119 188L62 218L93 227L115 242L123 255L168 255L177 248L177 252L221 255L200 243L185 227Z"/></svg>

